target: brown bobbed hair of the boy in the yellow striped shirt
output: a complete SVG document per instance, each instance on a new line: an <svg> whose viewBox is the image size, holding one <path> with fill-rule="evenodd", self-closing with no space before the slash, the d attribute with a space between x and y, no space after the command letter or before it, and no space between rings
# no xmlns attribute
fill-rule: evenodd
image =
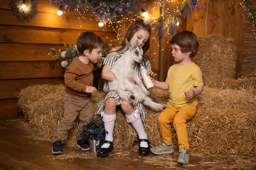
<svg viewBox="0 0 256 170"><path fill-rule="evenodd" d="M198 38L195 33L191 31L182 31L173 35L169 43L180 46L182 53L191 52L189 55L191 58L195 56L199 48Z"/></svg>

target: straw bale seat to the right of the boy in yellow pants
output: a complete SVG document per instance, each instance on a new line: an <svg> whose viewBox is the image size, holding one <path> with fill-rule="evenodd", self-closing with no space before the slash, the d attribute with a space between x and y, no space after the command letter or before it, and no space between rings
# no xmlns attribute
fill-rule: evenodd
<svg viewBox="0 0 256 170"><path fill-rule="evenodd" d="M188 122L193 152L256 155L256 96L250 90L205 87L199 101Z"/></svg>

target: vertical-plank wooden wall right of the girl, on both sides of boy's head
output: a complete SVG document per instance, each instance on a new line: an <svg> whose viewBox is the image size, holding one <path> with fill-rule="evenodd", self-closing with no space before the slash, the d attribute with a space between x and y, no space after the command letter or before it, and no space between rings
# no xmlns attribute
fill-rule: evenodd
<svg viewBox="0 0 256 170"><path fill-rule="evenodd" d="M183 0L173 0L173 10L175 10L177 4L182 1ZM247 16L245 15L244 8L239 4L239 2L241 1L201 0L201 2L203 3L203 7L200 8L200 10L191 11L192 20L189 20L189 18L186 18L186 20L182 20L182 22L180 23L180 29L177 31L193 31L197 36L205 36L216 33L218 35L224 36L225 38L234 38L237 42L239 49L236 78L246 77L248 74L245 74L245 72L243 72L242 74L242 69L245 69L246 67L246 65L244 65L245 63L243 63L243 48L244 46L248 46L247 42L244 41L245 17ZM150 1L150 3L152 2ZM255 0L251 0L251 4L255 3ZM154 17L158 18L157 16ZM254 28L252 27L252 29ZM157 37L156 34L153 35ZM254 33L252 33L252 31L251 35L251 38L253 39ZM153 70L158 73L160 81L165 80L168 68L173 64L173 59L171 57L171 47L169 44L167 44L166 46L166 42L168 42L168 40L168 35L161 38L160 40L157 39L156 41L160 45L158 47L159 55L154 56L151 55L151 53L148 54L151 57L150 59ZM156 48L155 45L153 46L154 48ZM150 44L150 48L151 47L152 46ZM254 47L256 47L256 44L253 46L253 48ZM255 67L255 65L253 66Z"/></svg>

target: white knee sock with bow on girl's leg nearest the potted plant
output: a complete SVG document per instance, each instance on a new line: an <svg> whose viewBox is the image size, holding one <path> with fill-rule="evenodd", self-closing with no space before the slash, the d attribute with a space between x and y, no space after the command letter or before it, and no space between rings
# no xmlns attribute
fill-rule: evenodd
<svg viewBox="0 0 256 170"><path fill-rule="evenodd" d="M102 120L104 121L104 127L106 130L105 141L113 141L113 130L115 126L116 113L113 115L106 115L104 112L101 113ZM103 144L101 148L108 148L110 144Z"/></svg>

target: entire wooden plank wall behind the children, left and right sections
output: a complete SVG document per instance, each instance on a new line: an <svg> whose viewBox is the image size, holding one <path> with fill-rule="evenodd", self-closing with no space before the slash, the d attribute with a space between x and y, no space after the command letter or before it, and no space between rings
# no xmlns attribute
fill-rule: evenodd
<svg viewBox="0 0 256 170"><path fill-rule="evenodd" d="M173 10L182 0L173 0ZM192 11L193 19L183 20L178 31L193 31L198 36L211 33L226 38L235 38L240 51L236 77L241 77L243 68L243 46L245 15L238 0L201 0L203 7ZM148 4L148 5L145 5ZM38 13L29 22L22 22L10 11L9 0L0 0L0 119L18 117L18 93L21 88L34 84L61 84L63 77L60 67L50 71L54 59L47 55L50 47L63 48L63 44L76 44L76 38L83 31L94 31L106 43L112 43L117 34L111 27L101 28L88 16L75 15L73 11L56 15L59 6L50 7L48 0L38 2ZM207 5L208 4L208 5ZM155 2L146 0L145 10L155 7ZM208 7L208 9L207 9ZM160 15L156 7L154 15ZM151 13L153 15L153 13ZM155 16L156 18L159 18ZM121 25L124 35L131 23ZM172 65L168 35L157 39L153 31L148 55L153 71L164 81ZM115 43L114 43L115 44ZM220 58L221 62L221 58Z"/></svg>

